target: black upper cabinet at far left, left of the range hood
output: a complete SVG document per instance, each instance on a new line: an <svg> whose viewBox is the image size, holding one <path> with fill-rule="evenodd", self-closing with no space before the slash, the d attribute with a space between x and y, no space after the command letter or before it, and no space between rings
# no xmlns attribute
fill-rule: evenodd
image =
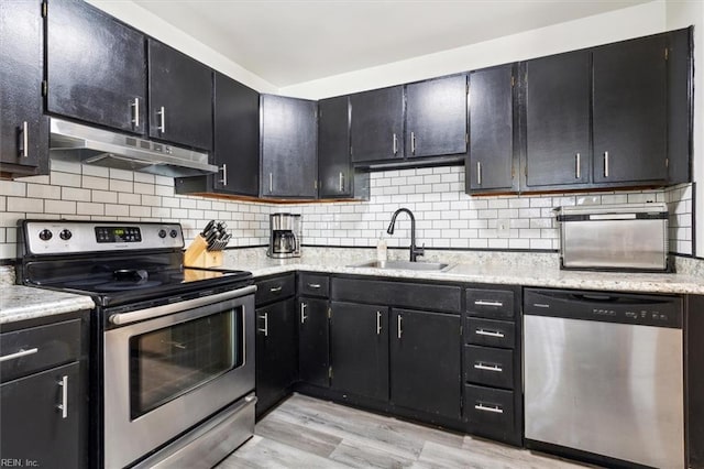
<svg viewBox="0 0 704 469"><path fill-rule="evenodd" d="M0 2L0 173L48 173L41 1Z"/></svg>

